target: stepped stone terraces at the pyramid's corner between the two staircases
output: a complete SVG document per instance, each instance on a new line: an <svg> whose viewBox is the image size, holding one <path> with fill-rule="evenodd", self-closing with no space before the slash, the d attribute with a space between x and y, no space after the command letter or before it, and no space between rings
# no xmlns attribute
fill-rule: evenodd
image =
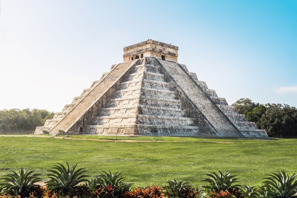
<svg viewBox="0 0 297 198"><path fill-rule="evenodd" d="M114 92L85 134L198 135L165 81L160 66L143 58Z"/></svg>

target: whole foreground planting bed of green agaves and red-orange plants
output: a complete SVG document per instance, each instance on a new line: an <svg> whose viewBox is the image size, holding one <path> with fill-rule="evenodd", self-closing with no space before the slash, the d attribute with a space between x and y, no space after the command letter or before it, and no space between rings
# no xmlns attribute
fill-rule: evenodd
<svg viewBox="0 0 297 198"><path fill-rule="evenodd" d="M211 172L204 179L208 184L204 189L198 189L185 180L168 180L166 186L146 186L133 188L133 183L125 181L121 173L104 172L87 180L85 168L77 169L77 164L71 167L66 162L55 165L49 170L50 180L47 186L34 183L41 181L39 174L23 168L19 173L13 172L5 175L4 183L0 183L0 198L36 197L60 198L76 196L99 198L297 198L297 175L289 176L285 171L271 173L263 181L263 186L240 186L237 175L230 172L223 174ZM83 183L86 182L86 183Z"/></svg>

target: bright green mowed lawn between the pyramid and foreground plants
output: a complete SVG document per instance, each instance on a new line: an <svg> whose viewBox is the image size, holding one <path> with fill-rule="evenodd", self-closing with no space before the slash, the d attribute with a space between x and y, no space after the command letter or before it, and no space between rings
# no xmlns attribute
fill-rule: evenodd
<svg viewBox="0 0 297 198"><path fill-rule="evenodd" d="M47 180L47 170L66 161L78 162L90 176L101 170L122 172L134 186L165 185L173 178L201 186L205 174L217 169L239 175L241 184L260 185L270 172L297 171L296 139L118 136L131 142L114 142L91 141L114 140L114 136L71 138L0 137L0 177L25 167L36 169Z"/></svg>

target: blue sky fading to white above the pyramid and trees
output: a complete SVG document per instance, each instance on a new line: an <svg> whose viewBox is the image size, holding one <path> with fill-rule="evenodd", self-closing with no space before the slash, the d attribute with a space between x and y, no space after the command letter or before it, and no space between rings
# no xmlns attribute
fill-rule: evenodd
<svg viewBox="0 0 297 198"><path fill-rule="evenodd" d="M179 47L208 88L297 106L297 1L0 3L0 110L59 112L148 38Z"/></svg>

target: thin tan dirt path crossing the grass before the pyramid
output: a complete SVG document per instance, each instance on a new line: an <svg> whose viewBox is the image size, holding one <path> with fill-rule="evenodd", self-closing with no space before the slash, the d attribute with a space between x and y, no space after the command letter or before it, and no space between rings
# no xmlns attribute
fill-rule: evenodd
<svg viewBox="0 0 297 198"><path fill-rule="evenodd" d="M71 140L89 140L100 142L186 142L186 141L165 141L165 140L100 140L100 139L88 139L88 138L73 138L64 136L47 136L47 135L0 135L0 137L51 137L59 139L71 139Z"/></svg>

